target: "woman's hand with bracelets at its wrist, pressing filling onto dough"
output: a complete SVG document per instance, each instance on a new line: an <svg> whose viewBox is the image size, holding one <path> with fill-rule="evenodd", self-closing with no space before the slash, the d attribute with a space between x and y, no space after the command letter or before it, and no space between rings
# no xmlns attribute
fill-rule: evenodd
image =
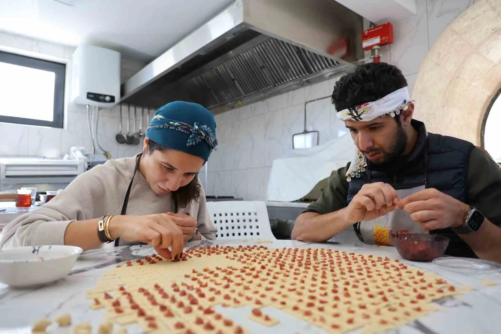
<svg viewBox="0 0 501 334"><path fill-rule="evenodd" d="M183 250L184 240L183 231L173 218L167 214L114 216L110 220L110 234L113 239L140 241L153 246L166 259L177 258Z"/></svg>

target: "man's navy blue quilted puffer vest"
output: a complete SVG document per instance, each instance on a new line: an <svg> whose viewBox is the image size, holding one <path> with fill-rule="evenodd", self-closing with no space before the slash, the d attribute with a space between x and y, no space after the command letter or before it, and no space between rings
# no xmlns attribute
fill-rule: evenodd
<svg viewBox="0 0 501 334"><path fill-rule="evenodd" d="M467 176L468 162L472 143L435 133L428 133L424 123L411 120L418 137L412 151L386 165L374 165L368 161L360 178L353 178L348 186L348 203L366 183L384 182L394 189L406 189L416 186L435 188L458 201L468 204ZM359 239L362 236L359 224L354 224ZM362 223L363 224L363 223ZM451 229L430 231L450 238L446 255L476 257L471 248Z"/></svg>

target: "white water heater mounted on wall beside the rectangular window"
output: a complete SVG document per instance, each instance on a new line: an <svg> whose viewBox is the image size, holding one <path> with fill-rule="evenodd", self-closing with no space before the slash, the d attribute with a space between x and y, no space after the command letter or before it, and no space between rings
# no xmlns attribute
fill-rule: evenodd
<svg viewBox="0 0 501 334"><path fill-rule="evenodd" d="M73 53L71 100L109 108L120 101L120 53L81 45Z"/></svg>

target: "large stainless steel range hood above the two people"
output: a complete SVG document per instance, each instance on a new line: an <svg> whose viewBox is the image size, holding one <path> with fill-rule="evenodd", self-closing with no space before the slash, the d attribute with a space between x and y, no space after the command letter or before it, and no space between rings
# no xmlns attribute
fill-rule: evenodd
<svg viewBox="0 0 501 334"><path fill-rule="evenodd" d="M349 71L362 17L334 0L237 0L122 84L122 102L218 113Z"/></svg>

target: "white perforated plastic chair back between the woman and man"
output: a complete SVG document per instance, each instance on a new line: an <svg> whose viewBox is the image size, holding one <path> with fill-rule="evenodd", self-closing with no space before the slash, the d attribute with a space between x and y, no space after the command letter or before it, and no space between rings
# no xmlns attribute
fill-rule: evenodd
<svg viewBox="0 0 501 334"><path fill-rule="evenodd" d="M265 202L207 202L217 239L275 240Z"/></svg>

